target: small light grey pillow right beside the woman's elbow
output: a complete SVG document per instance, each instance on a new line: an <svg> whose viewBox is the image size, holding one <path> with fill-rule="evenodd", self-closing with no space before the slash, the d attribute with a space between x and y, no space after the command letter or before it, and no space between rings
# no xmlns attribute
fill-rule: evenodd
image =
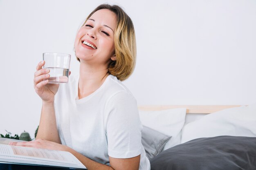
<svg viewBox="0 0 256 170"><path fill-rule="evenodd" d="M141 143L146 151L146 157L152 159L159 154L166 142L171 139L170 136L164 135L156 130L143 126L141 133Z"/></svg>

